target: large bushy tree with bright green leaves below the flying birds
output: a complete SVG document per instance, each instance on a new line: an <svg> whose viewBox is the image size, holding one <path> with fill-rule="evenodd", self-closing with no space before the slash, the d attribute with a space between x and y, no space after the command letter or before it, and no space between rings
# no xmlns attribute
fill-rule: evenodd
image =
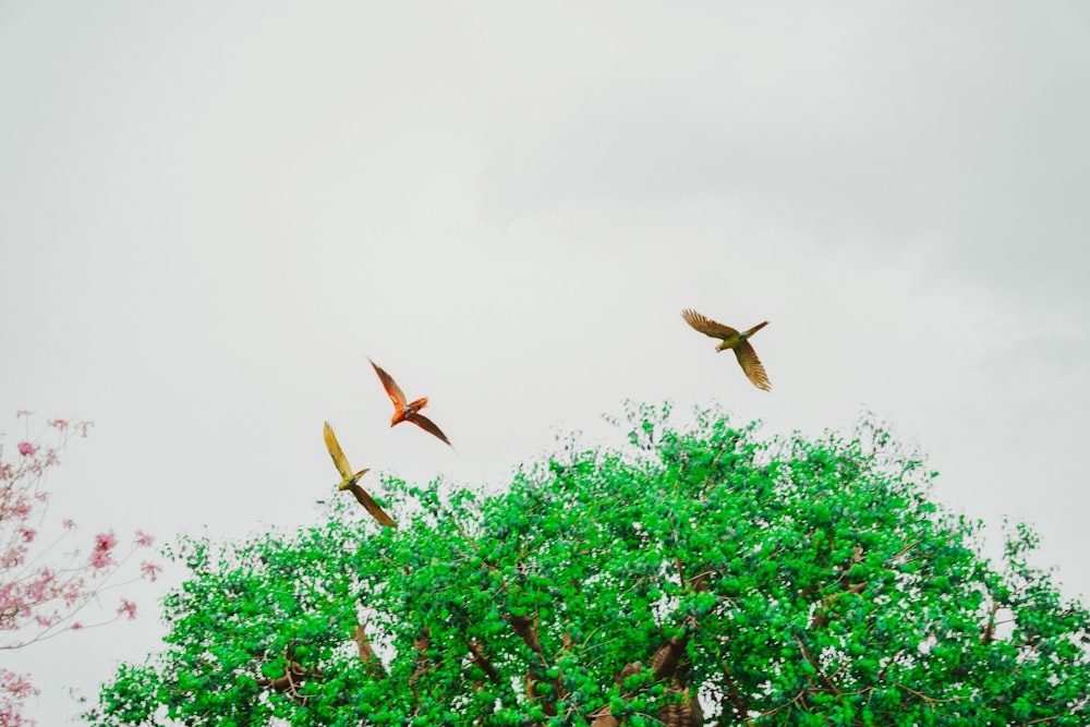
<svg viewBox="0 0 1090 727"><path fill-rule="evenodd" d="M401 528L186 540L167 649L95 725L1090 724L1090 617L929 497L872 420L762 440L631 408L486 495L385 480ZM354 504L351 504L354 507ZM175 722L171 722L175 720Z"/></svg>

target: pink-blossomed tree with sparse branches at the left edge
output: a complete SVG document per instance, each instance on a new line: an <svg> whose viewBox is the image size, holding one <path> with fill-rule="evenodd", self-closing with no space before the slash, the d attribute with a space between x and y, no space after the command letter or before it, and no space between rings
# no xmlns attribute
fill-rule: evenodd
<svg viewBox="0 0 1090 727"><path fill-rule="evenodd" d="M93 422L55 419L32 437L31 412L21 410L15 419L23 420L24 436L13 452L9 452L0 435L0 650L23 649L64 631L135 618L136 604L119 598L111 616L89 622L78 620L84 607L106 591L135 578L154 581L159 575L161 568L144 560L140 577L110 583L125 570L137 549L152 545L152 536L137 531L128 552L118 547L112 531L95 535L89 552L80 547L62 549L74 537L76 524L72 520L53 523L47 519L49 493L43 489L45 476L60 464L59 452L69 439L76 434L86 437ZM56 537L40 537L50 529L59 531ZM26 699L36 693L27 675L0 667L0 725L33 725L22 711Z"/></svg>

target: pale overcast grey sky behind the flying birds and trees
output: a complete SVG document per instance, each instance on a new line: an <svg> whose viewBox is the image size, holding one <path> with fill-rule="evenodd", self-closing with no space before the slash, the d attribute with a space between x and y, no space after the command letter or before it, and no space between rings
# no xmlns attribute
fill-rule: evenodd
<svg viewBox="0 0 1090 727"><path fill-rule="evenodd" d="M0 432L95 422L46 483L86 537L227 541L317 518L327 420L498 487L625 399L871 411L1090 595L1088 88L1077 1L0 0ZM770 320L773 390L683 307ZM157 651L181 575L5 652L27 716Z"/></svg>

